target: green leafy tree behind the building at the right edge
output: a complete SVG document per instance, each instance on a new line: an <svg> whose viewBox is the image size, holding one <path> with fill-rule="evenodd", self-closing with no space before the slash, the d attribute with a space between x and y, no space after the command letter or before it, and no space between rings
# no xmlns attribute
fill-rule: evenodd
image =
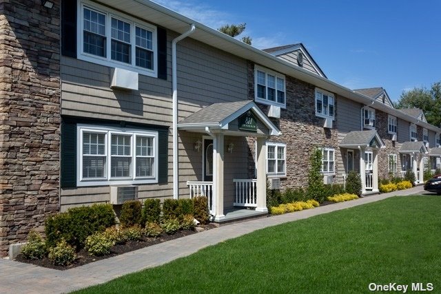
<svg viewBox="0 0 441 294"><path fill-rule="evenodd" d="M430 89L416 87L402 92L396 108L420 108L427 123L440 126L441 123L441 82L433 83Z"/></svg>

